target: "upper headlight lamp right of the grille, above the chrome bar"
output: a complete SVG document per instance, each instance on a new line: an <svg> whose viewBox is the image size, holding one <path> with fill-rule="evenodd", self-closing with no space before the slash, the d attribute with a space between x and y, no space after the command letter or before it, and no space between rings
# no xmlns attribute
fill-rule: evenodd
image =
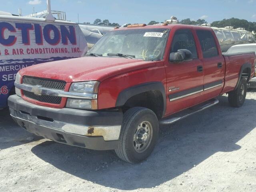
<svg viewBox="0 0 256 192"><path fill-rule="evenodd" d="M99 84L100 82L98 81L72 83L69 91L76 93L98 93Z"/></svg>

